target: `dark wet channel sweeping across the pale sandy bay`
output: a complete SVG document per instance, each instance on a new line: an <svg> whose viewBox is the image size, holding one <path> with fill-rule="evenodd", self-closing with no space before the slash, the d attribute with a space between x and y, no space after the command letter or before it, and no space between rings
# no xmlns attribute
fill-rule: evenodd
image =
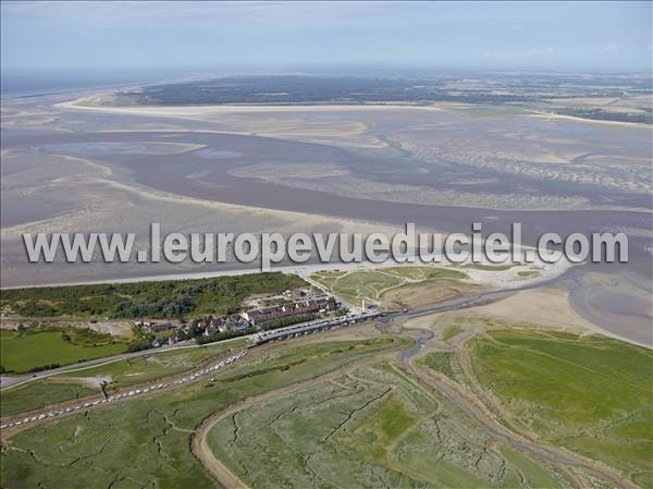
<svg viewBox="0 0 653 489"><path fill-rule="evenodd" d="M128 152L123 148L136 144L153 145L159 140L174 146L187 145L190 149L176 154L150 155ZM370 179L384 176L393 183L392 158L361 156L342 148L258 136L214 133L44 133L15 134L8 138L12 147L46 154L84 155L91 160L119 168L139 184L172 194L243 206L332 216L373 222L418 225L441 232L469 233L472 222L482 222L485 233L509 234L513 222L522 223L526 244L534 244L544 232L568 235L572 232L606 232L620 229L639 230L630 236L630 267L642 270L650 259L644 250L646 234L653 232L649 212L628 210L496 210L460 206L441 206L397 203L334 195L330 192L286 186L260 178L234 176L234 170L260 163L310 167L338 164L365 173ZM112 150L118 148L120 150ZM181 146L180 146L181 147ZM429 180L419 173L399 169L403 179ZM409 167L409 166L408 166ZM375 173L372 171L375 170ZM347 176L343 176L346 179ZM424 182L421 182L424 184ZM438 188L436 182L433 186ZM601 196L599 196L601 197ZM639 201L645 205L644 201ZM605 265L611 267L611 265ZM628 265L627 265L628 266ZM613 266L614 267L614 266Z"/></svg>

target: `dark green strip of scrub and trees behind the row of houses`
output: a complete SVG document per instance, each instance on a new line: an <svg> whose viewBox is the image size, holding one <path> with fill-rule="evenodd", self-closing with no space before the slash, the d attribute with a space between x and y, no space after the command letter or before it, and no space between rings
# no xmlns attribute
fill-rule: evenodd
<svg viewBox="0 0 653 489"><path fill-rule="evenodd" d="M243 298L307 286L281 272L201 280L74 285L2 291L0 304L23 316L101 316L181 318L185 315L238 310Z"/></svg>

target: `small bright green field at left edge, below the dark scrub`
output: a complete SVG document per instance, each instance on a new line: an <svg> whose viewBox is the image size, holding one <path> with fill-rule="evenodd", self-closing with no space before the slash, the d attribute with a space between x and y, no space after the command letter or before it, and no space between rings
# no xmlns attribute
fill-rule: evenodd
<svg viewBox="0 0 653 489"><path fill-rule="evenodd" d="M76 344L73 341L66 341L64 332L58 330L1 330L1 365L5 371L21 374L39 367L69 365L127 351L127 343L113 341L110 337L104 339L104 344L98 346Z"/></svg>

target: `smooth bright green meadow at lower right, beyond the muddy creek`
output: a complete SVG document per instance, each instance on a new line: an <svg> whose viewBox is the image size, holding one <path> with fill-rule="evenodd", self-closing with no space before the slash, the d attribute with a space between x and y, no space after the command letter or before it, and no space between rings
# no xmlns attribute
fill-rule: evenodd
<svg viewBox="0 0 653 489"><path fill-rule="evenodd" d="M653 487L653 352L603 337L493 331L476 376L512 423Z"/></svg>

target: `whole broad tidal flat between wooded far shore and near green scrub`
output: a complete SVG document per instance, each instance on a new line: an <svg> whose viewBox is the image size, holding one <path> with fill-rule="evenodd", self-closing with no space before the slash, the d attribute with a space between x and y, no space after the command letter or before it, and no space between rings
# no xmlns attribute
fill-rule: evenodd
<svg viewBox="0 0 653 489"><path fill-rule="evenodd" d="M3 285L210 268L30 267L21 242L35 231L146 239L151 221L182 232L405 222L469 232L479 221L485 233L521 222L526 243L624 231L629 262L592 269L651 277L651 127L641 124L451 103L98 108L72 98L3 100Z"/></svg>

